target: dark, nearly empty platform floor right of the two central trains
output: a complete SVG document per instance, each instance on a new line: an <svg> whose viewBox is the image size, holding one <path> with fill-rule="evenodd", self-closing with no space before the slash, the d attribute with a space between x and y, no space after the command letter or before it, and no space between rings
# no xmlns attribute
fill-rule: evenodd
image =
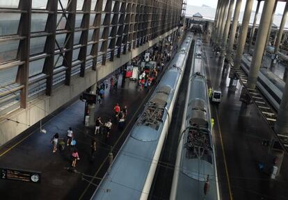
<svg viewBox="0 0 288 200"><path fill-rule="evenodd" d="M269 126L254 105L249 106L249 115L241 113L240 83L237 90L228 90L229 67L223 64L223 59L215 56L208 44L204 51L209 85L223 94L221 103L211 107L222 199L288 199L287 155L276 180L259 172L259 162L266 163L266 172L272 163L268 148L261 144L262 140L271 138Z"/></svg>

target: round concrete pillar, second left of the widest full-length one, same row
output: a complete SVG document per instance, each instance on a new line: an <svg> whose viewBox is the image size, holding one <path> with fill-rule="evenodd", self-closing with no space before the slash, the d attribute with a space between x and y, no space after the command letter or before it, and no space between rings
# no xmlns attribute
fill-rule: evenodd
<svg viewBox="0 0 288 200"><path fill-rule="evenodd" d="M235 35L237 31L237 26L238 26L238 19L239 19L241 4L242 4L242 0L237 0L235 10L234 10L229 43L228 43L228 50L227 50L228 58L232 58L233 45L234 45Z"/></svg>

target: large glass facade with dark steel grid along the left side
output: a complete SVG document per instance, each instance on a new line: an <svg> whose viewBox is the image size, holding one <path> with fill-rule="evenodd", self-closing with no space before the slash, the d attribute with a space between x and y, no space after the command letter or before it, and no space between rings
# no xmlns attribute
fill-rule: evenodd
<svg viewBox="0 0 288 200"><path fill-rule="evenodd" d="M181 8L181 0L0 0L0 110L25 108L38 92L51 95L170 31Z"/></svg>

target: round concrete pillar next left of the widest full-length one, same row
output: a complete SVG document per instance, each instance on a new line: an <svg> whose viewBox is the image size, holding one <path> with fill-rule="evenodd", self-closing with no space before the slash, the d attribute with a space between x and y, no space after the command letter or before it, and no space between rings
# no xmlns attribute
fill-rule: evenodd
<svg viewBox="0 0 288 200"><path fill-rule="evenodd" d="M243 20L242 20L242 28L241 28L241 33L240 33L240 40L238 42L237 53L236 53L236 56L234 58L234 67L236 69L239 69L239 67L240 67L242 54L243 54L243 51L244 51L246 38L247 38L247 32L248 32L248 26L249 26L252 6L253 6L253 0L247 0L246 1L246 6L245 6L244 16L243 16Z"/></svg>

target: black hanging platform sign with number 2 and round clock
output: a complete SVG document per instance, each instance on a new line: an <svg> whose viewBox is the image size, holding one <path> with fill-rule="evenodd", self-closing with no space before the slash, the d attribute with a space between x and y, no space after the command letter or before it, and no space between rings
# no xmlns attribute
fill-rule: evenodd
<svg viewBox="0 0 288 200"><path fill-rule="evenodd" d="M41 173L22 171L19 169L4 169L0 168L1 179L11 180L11 181L23 181L29 183L40 183Z"/></svg>

